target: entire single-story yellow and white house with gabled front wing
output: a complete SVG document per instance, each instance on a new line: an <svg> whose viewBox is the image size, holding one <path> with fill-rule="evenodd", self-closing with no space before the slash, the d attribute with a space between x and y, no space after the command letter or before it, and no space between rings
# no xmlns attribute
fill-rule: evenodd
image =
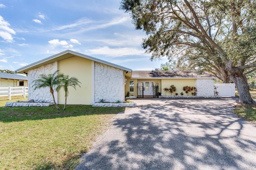
<svg viewBox="0 0 256 170"><path fill-rule="evenodd" d="M124 102L128 91L130 95L140 97L138 87L142 85L145 87L144 94L151 95L153 84L158 84L161 90L174 84L179 92L181 86L195 86L198 89L197 95L214 96L213 79L216 78L210 74L199 75L193 72L132 71L130 68L66 50L16 70L17 73L28 74L28 100L52 101L50 90L34 90L32 81L40 74L56 70L74 76L81 82L81 87L76 90L69 88L67 104L84 105L94 104L101 99L106 102ZM64 90L55 92L55 98L58 104L64 104Z"/></svg>

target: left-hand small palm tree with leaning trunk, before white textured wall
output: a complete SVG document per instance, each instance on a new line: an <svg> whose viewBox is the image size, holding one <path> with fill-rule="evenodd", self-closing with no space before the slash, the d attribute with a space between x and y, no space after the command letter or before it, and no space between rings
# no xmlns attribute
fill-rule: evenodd
<svg viewBox="0 0 256 170"><path fill-rule="evenodd" d="M50 73L48 75L40 74L39 78L33 81L34 85L32 87L34 87L34 90L38 88L46 88L46 87L50 88L50 93L52 94L54 105L56 106L57 109L60 109L55 102L55 98L53 94L54 88L56 89L56 91L58 91L59 89L58 86L60 84L60 77L63 76L63 74L58 74L58 71L59 70L55 71L53 74Z"/></svg>

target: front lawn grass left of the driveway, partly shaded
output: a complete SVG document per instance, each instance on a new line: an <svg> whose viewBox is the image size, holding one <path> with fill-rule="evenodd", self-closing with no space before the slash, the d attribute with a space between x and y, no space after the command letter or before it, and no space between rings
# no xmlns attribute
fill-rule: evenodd
<svg viewBox="0 0 256 170"><path fill-rule="evenodd" d="M60 108L63 108L60 105ZM0 107L0 169L74 169L122 107Z"/></svg>

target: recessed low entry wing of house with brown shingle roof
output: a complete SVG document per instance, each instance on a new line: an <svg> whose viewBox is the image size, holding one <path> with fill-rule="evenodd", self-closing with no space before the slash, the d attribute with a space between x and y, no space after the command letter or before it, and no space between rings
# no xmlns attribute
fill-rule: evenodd
<svg viewBox="0 0 256 170"><path fill-rule="evenodd" d="M192 71L132 71L126 75L126 92L130 95L141 97L156 96L156 92L164 96L174 96L177 93L186 95L184 86L196 87L197 96L214 96L215 76L209 73L198 74ZM164 91L164 88L176 87L176 92ZM158 88L158 91L156 91ZM191 92L188 95L192 95Z"/></svg>

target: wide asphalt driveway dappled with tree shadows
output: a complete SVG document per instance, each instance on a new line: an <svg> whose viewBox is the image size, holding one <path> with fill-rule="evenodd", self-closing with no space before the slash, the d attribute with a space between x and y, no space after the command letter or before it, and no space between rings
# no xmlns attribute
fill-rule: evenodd
<svg viewBox="0 0 256 170"><path fill-rule="evenodd" d="M255 169L256 125L232 112L236 100L136 100L76 170Z"/></svg>

